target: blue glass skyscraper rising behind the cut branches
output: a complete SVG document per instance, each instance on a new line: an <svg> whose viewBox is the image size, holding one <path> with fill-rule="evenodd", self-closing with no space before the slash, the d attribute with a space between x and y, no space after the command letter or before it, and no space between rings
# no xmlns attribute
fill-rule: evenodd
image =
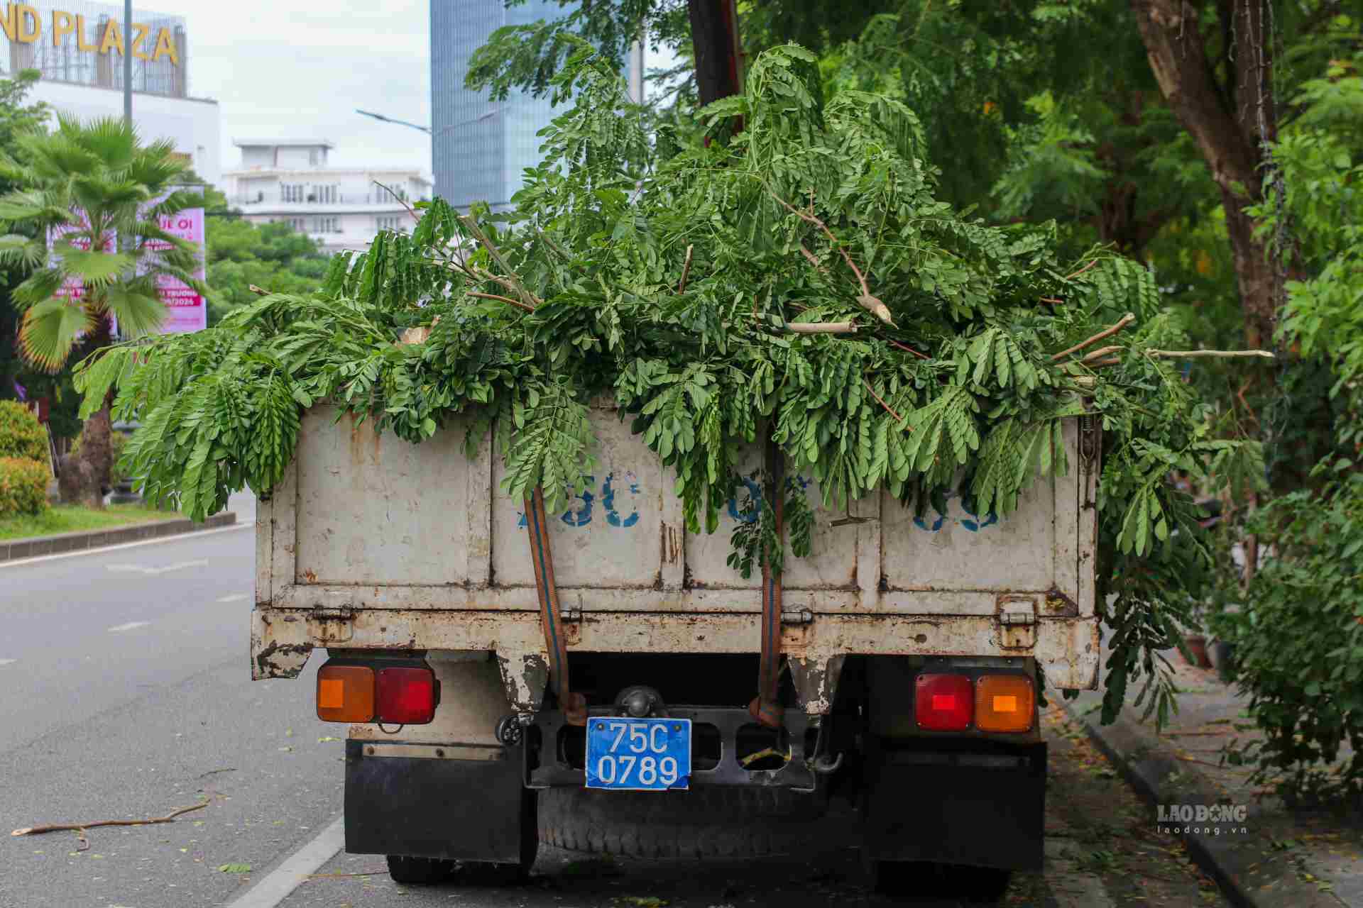
<svg viewBox="0 0 1363 908"><path fill-rule="evenodd" d="M548 98L512 91L506 101L463 87L469 59L502 26L553 20L571 12L557 0L431 0L431 158L435 193L458 208L495 210L521 188L521 172L540 162L540 136L555 110Z"/></svg>

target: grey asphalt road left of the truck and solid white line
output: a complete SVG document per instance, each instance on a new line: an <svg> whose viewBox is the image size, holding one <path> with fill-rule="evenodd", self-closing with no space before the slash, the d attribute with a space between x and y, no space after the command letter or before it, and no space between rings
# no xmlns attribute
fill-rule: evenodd
<svg viewBox="0 0 1363 908"><path fill-rule="evenodd" d="M341 809L337 726L311 671L252 682L244 525L0 565L0 832L161 817L173 824L0 837L0 908L198 908L311 840ZM316 670L315 659L309 670Z"/></svg>

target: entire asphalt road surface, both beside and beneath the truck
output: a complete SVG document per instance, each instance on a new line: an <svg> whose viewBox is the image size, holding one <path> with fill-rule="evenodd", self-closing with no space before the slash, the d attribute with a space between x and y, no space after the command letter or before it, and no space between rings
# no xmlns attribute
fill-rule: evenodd
<svg viewBox="0 0 1363 908"><path fill-rule="evenodd" d="M330 844L345 730L313 716L320 655L296 681L249 679L249 505L236 502L237 530L0 565L0 832L207 805L170 824L90 829L89 848L74 832L3 836L0 908L961 904L928 881L900 903L871 896L848 817L810 825L807 852L785 859L612 862L542 849L518 886L466 875L395 885L382 856ZM1045 735L1062 792L1048 799L1048 866L1021 874L1000 904L1221 904L1169 856L1174 843L1141 837L1148 807L1081 734L1048 719ZM300 873L313 875L279 890Z"/></svg>

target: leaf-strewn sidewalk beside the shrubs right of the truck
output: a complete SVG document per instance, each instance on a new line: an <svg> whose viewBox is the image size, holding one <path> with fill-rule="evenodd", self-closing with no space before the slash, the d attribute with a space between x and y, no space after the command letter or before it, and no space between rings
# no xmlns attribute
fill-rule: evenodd
<svg viewBox="0 0 1363 908"><path fill-rule="evenodd" d="M1183 693L1179 715L1163 734L1153 719L1141 723L1142 709L1130 705L1137 683L1111 726L1100 724L1101 690L1060 702L1150 805L1152 824L1182 839L1235 904L1363 908L1363 818L1291 810L1249 784L1250 768L1220 765L1223 747L1232 741L1243 746L1258 734L1247 698L1214 671L1187 666L1175 651L1167 655ZM1243 820L1239 813L1228 822L1197 822L1195 813L1194 822L1176 820L1180 807L1217 805L1244 807Z"/></svg>

